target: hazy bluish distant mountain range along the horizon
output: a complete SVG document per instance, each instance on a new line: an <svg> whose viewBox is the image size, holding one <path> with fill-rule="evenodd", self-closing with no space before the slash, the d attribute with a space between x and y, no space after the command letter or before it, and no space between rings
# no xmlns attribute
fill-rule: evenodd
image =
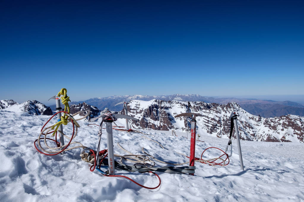
<svg viewBox="0 0 304 202"><path fill-rule="evenodd" d="M111 111L120 111L123 105L115 104L122 101L142 100L150 101L153 99L163 101L203 101L206 103L227 104L229 102L238 103L244 110L253 115L260 115L264 118L279 117L283 115L293 114L304 116L304 105L291 101L273 101L273 100L257 100L257 99L239 99L239 98L212 98L204 97L198 94L173 94L173 95L125 95L125 96L110 96L104 98L91 98L85 101L72 101L71 104L87 103L97 107L100 110L109 108ZM55 104L50 105L50 108L55 111Z"/></svg>

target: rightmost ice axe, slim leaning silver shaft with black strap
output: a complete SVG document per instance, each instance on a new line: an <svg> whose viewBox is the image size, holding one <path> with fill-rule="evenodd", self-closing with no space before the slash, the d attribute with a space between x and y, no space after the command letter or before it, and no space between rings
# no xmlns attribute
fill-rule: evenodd
<svg viewBox="0 0 304 202"><path fill-rule="evenodd" d="M228 145L230 145L230 156L232 156L232 142L231 142L231 136L233 131L233 125L235 129L235 136L237 137L237 149L239 151L239 158L240 158L240 167L244 171L244 165L243 165L243 157L242 157L242 151L241 151L241 143L240 143L240 136L239 136L239 129L237 127L237 110L233 110L230 114L230 137ZM226 147L226 151L228 149L228 145ZM225 153L226 153L225 151Z"/></svg>

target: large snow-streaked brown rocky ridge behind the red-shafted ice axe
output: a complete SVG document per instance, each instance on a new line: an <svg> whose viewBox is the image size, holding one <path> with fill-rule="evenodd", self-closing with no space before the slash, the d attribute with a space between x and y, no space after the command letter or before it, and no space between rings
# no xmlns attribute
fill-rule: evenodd
<svg viewBox="0 0 304 202"><path fill-rule="evenodd" d="M201 114L197 117L197 133L213 137L228 137L230 130L230 114L238 110L238 128L240 137L250 141L303 142L304 117L286 115L275 118L262 118L252 115L237 103L216 104L190 102L192 113ZM136 129L177 130L187 131L190 118L174 116L188 111L185 101L140 101L131 100L127 105L128 115L140 121L132 121ZM124 114L124 111L119 111Z"/></svg>

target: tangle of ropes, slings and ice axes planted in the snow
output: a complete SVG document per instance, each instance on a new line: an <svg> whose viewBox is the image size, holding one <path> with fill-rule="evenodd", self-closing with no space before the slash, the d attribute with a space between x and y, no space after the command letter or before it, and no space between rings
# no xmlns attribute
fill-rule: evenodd
<svg viewBox="0 0 304 202"><path fill-rule="evenodd" d="M179 115L175 116L175 117L179 117L179 116L192 117L190 156L181 154L185 157L188 157L190 159L190 161L183 162L183 163L170 163L170 162L161 161L161 160L153 157L152 155L150 155L148 153L148 151L144 147L142 147L141 155L132 154L131 152L124 149L119 143L117 143L119 148L128 154L125 154L125 155L114 154L114 151L113 151L114 142L113 142L113 135L112 135L113 129L118 130L118 131L126 131L129 133L130 132L142 133L143 134L142 137L147 138L150 141L156 142L164 149L164 147L159 142L148 138L147 134L145 134L141 131L136 131L136 130L132 129L132 127L131 127L132 124L129 122L129 119L131 119L131 120L133 119L136 121L138 121L138 120L136 118L133 118L133 117L127 115L126 102L123 102L125 114L112 114L110 111L107 111L105 114L102 114L98 117L89 119L89 122L96 121L99 118L101 119L101 122L99 125L98 124L88 124L89 127L92 127L90 125L96 125L99 127L98 143L97 143L97 147L95 150L95 149L82 145L80 142L76 142L76 141L72 142L72 140L77 135L78 127L80 127L80 125L78 124L77 121L90 116L89 108L85 111L79 111L79 112L71 115L70 108L68 105L68 101L70 101L70 98L67 96L67 90L65 88L62 88L58 92L57 96L54 96L52 98L54 98L56 100L57 112L43 125L38 139L34 141L34 146L35 146L36 150L42 154L57 155L57 154L63 154L64 151L69 151L74 148L82 148L82 150L80 152L81 159L83 161L86 161L86 162L92 164L92 166L90 167L90 171L93 172L93 171L97 170L103 176L107 176L107 177L124 177L124 178L131 180L135 184L137 184L141 187L147 188L147 189L156 189L161 184L161 179L155 172L165 172L165 173L170 173L170 174L178 174L178 173L180 174L181 173L181 174L194 175L194 173L195 173L194 162L200 162L200 163L208 164L211 166L215 166L215 165L226 166L229 164L229 155L226 154L228 145L227 145L226 151L223 151L216 147L209 147L202 152L200 158L195 157L195 131L196 131L195 117L202 116L200 114L194 114L194 113L188 112L188 113L179 114ZM64 111L62 111L62 108L60 107L59 99L61 100L61 103L64 104ZM121 104L121 103L118 103L118 104ZM190 104L188 103L188 111L189 111L189 107L190 107ZM75 115L83 113L83 112L87 113L84 117L79 118L79 119L74 118ZM61 113L63 113L63 115L61 115ZM57 115L57 123L47 127L46 125L56 115ZM119 118L126 119L126 129L122 129L123 126L118 126L115 123L115 121ZM235 118L235 116L233 116L231 118L231 120L233 120L233 118ZM63 131L63 125L67 125L68 123L71 123L72 127L73 127L73 132L70 137L68 137L66 134L64 134L64 131ZM105 126L106 126L105 128L103 128L103 123L105 123ZM114 123L115 126L112 126L112 123ZM129 128L129 125L130 125L130 128ZM103 149L103 150L100 149L102 129L106 130L106 136L107 136L107 149ZM228 143L229 145L231 145L232 130L233 130L233 125L231 124L230 140ZM48 134L51 134L53 139L48 138L47 137ZM59 140L57 139L57 135L59 135ZM176 132L174 130L172 130L172 135L177 136ZM64 144L64 137L69 140L67 144ZM49 143L48 143L49 140L53 141L56 144L56 147L49 146ZM41 145L42 141L44 142L44 146ZM76 144L76 146L69 147L72 144ZM204 160L202 158L203 154L205 151L207 151L210 148L216 148L216 149L222 151L224 154L222 154L218 158ZM232 152L232 150L231 150L231 152ZM180 154L180 153L178 153L178 154ZM226 156L226 158L223 159L222 158L223 156ZM115 160L114 157L116 157L117 159ZM119 158L120 158L120 160L118 160ZM218 162L218 160L220 162ZM227 160L228 160L228 163L226 163ZM131 162L133 165L126 164L126 161ZM156 162L159 162L162 164L167 164L169 166L157 167ZM182 166L184 164L189 164L189 166ZM123 175L116 175L115 170L124 170L124 171L129 171L129 172L140 172L140 173L149 172L149 173L152 173L157 176L157 178L159 179L159 184L156 187L145 187L145 186L135 182L134 180L130 179L129 177L126 177Z"/></svg>

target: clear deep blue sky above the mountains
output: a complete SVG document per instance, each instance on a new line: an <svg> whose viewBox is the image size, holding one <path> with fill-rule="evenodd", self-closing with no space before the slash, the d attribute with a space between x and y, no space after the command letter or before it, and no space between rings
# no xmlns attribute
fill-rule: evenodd
<svg viewBox="0 0 304 202"><path fill-rule="evenodd" d="M46 102L61 88L73 101L303 95L303 11L303 1L5 1L0 100Z"/></svg>

